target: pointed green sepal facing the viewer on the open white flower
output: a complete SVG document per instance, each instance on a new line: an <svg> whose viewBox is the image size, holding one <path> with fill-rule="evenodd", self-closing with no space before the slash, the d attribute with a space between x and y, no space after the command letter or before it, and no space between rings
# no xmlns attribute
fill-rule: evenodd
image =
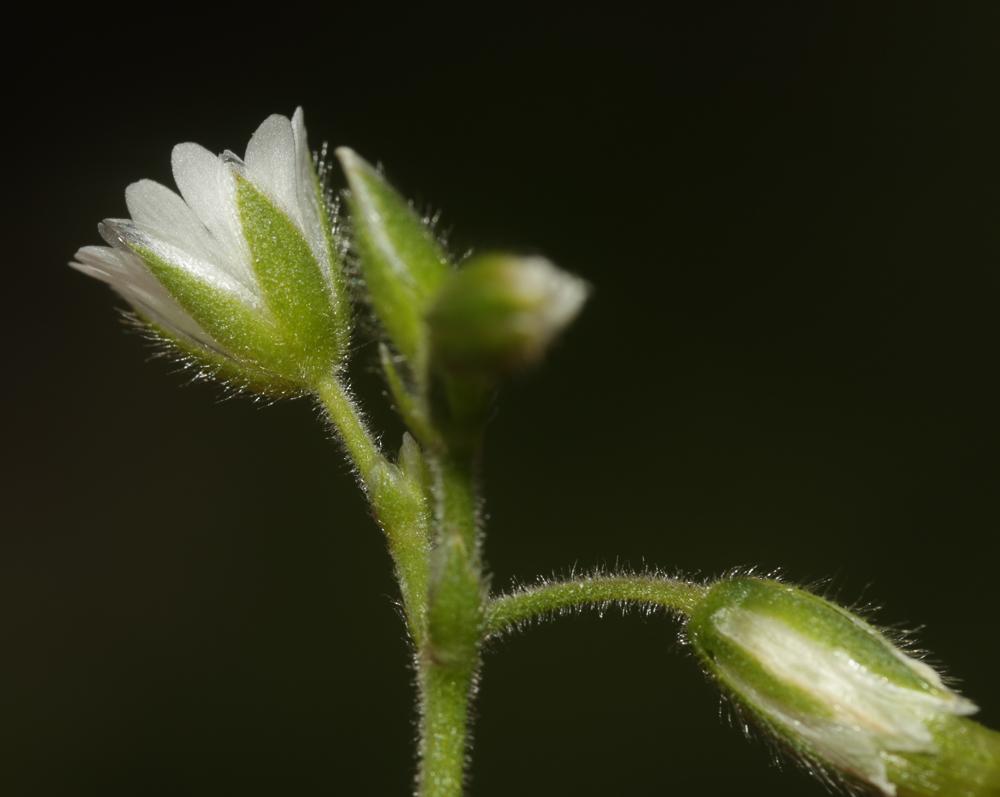
<svg viewBox="0 0 1000 797"><path fill-rule="evenodd" d="M267 308L303 378L321 379L343 361L350 334L331 283L292 220L246 179L236 183L243 234Z"/></svg>

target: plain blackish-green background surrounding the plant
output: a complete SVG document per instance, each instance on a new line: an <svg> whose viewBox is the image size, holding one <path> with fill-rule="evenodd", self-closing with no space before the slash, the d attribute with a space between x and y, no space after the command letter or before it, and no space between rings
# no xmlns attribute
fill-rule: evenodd
<svg viewBox="0 0 1000 797"><path fill-rule="evenodd" d="M95 11L8 63L4 793L407 793L395 590L315 411L182 387L65 267L129 182L170 182L174 143L242 151L297 104L456 252L595 288L492 423L497 588L829 577L925 625L1000 726L1000 13L926 6ZM359 391L395 445L373 354ZM491 650L472 793L821 794L719 720L676 631L587 615Z"/></svg>

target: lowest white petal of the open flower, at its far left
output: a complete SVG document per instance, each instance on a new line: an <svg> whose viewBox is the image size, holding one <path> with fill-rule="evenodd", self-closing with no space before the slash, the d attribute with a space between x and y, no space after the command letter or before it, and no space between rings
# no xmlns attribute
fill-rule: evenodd
<svg viewBox="0 0 1000 797"><path fill-rule="evenodd" d="M108 246L85 246L76 253L76 260L70 265L108 283L140 313L168 332L225 353L132 252Z"/></svg>

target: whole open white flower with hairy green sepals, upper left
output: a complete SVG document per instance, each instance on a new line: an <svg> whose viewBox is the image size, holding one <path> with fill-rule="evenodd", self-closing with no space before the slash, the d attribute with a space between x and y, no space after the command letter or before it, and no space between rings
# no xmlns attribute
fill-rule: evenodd
<svg viewBox="0 0 1000 797"><path fill-rule="evenodd" d="M337 369L350 317L324 189L302 109L270 116L246 155L178 144L180 191L140 180L130 219L71 265L114 288L158 334L220 376L265 393Z"/></svg>

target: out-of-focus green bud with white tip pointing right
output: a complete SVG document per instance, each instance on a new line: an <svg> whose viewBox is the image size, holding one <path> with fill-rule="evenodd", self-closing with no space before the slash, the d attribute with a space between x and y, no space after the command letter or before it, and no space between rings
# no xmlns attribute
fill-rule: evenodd
<svg viewBox="0 0 1000 797"><path fill-rule="evenodd" d="M433 359L450 372L490 376L533 363L586 298L583 280L544 258L474 258L428 314Z"/></svg>

